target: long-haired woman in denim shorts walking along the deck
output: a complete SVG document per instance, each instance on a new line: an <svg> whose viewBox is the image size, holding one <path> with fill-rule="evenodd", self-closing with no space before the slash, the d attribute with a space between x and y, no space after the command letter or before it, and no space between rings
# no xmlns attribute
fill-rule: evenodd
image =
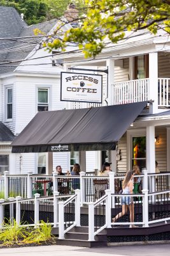
<svg viewBox="0 0 170 256"><path fill-rule="evenodd" d="M122 183L123 192L122 194L132 194L133 193L133 172L128 171L125 175L125 179ZM122 212L119 212L115 218L112 219L113 222L117 221L118 218L125 215L129 209L130 212L130 221L134 222L134 203L132 196L122 196ZM130 228L136 228L138 226L130 225Z"/></svg>

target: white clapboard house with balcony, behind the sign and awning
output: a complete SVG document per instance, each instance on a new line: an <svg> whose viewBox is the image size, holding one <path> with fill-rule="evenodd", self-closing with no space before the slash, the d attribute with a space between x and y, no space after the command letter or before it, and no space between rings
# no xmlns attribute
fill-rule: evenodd
<svg viewBox="0 0 170 256"><path fill-rule="evenodd" d="M102 106L106 106L106 101L108 105L118 105L151 100L148 108L122 136L117 150L106 152L115 172L130 170L133 164L155 172L155 161L160 171L170 171L169 35L164 31L158 31L155 36L144 32L138 31L118 44L110 44L96 60L89 58L86 61L80 51L54 57L56 60L63 58L66 70L74 67L74 72L81 72L76 70L81 65L87 69L94 65L99 70L108 67L108 84L106 74L103 76ZM69 108L90 105L73 102ZM102 156L104 152L98 152L99 165L96 168L100 168Z"/></svg>

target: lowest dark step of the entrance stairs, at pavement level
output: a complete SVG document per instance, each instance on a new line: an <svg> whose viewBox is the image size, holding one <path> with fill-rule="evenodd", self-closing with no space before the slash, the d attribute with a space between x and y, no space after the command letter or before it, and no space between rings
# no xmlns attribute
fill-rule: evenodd
<svg viewBox="0 0 170 256"><path fill-rule="evenodd" d="M107 246L107 241L85 241L81 239L57 239L56 244L92 248L92 247Z"/></svg>

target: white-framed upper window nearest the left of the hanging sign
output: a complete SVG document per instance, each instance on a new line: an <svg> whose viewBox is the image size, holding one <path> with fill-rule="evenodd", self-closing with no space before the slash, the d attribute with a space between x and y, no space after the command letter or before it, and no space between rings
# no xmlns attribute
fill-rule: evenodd
<svg viewBox="0 0 170 256"><path fill-rule="evenodd" d="M38 88L38 111L48 111L49 95L48 88Z"/></svg>

